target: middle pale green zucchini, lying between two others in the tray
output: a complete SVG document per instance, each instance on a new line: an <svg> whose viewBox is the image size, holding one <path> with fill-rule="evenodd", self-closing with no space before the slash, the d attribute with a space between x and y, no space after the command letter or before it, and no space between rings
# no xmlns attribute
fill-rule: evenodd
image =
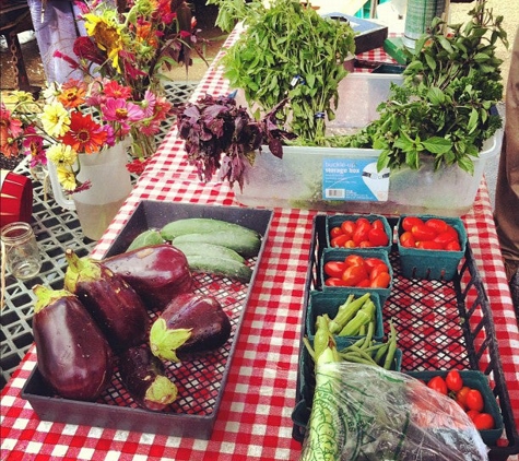
<svg viewBox="0 0 519 461"><path fill-rule="evenodd" d="M244 258L258 256L261 247L261 238L258 234L239 230L217 230L210 234L184 234L172 240L174 246L186 243L220 245L231 248Z"/></svg>

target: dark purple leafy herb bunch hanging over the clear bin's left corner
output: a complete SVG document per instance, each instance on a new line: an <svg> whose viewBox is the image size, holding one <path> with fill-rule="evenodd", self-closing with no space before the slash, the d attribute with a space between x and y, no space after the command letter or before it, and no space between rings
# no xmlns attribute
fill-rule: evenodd
<svg viewBox="0 0 519 461"><path fill-rule="evenodd" d="M227 180L231 186L236 181L243 190L247 164L253 163L262 144L281 158L283 140L294 138L275 120L285 103L282 101L259 121L231 96L205 95L196 104L177 106L178 132L186 140L188 161L197 167L200 180L210 181L217 173L219 180Z"/></svg>

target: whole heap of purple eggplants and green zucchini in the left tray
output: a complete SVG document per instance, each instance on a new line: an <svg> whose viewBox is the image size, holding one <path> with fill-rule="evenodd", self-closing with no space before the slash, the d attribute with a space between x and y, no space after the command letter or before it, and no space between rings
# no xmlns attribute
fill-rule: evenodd
<svg viewBox="0 0 519 461"><path fill-rule="evenodd" d="M187 255L172 245L177 239ZM129 251L101 261L67 249L64 289L34 288L44 380L59 397L95 401L118 375L139 406L172 411L181 392L175 374L191 369L191 357L223 346L233 328L216 293L197 293L190 258L204 256L203 264L193 265L205 275L247 283L247 259L258 256L261 240L245 226L186 218L146 229ZM231 262L240 269L228 269Z"/></svg>

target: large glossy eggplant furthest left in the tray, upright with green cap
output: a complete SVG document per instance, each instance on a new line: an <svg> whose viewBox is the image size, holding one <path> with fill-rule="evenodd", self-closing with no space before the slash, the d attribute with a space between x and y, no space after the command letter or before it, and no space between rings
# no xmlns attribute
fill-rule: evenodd
<svg viewBox="0 0 519 461"><path fill-rule="evenodd" d="M35 285L33 335L44 380L64 399L93 401L114 371L114 353L75 295Z"/></svg>

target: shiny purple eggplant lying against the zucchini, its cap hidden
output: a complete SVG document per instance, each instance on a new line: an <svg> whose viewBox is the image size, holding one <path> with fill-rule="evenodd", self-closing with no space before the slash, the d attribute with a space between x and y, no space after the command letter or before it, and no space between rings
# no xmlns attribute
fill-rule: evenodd
<svg viewBox="0 0 519 461"><path fill-rule="evenodd" d="M169 244L138 248L102 262L125 279L152 310L163 310L175 296L192 289L186 256Z"/></svg>

